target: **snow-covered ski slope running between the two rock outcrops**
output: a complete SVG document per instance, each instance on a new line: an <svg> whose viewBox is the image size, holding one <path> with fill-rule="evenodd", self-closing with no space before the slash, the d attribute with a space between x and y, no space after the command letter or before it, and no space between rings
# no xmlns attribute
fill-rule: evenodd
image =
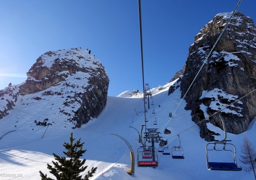
<svg viewBox="0 0 256 180"><path fill-rule="evenodd" d="M153 122L149 120L147 127L157 127L160 131L165 128L169 120L169 113L174 112L181 101L180 97L180 89L175 90L169 96L168 88L164 88L158 92L155 91L153 98L157 126L153 125ZM182 101L180 107L166 125L171 130L171 134L165 135L162 132L161 136L163 138L170 138L195 124L191 120L191 111L184 109L185 105L186 102ZM82 142L85 142L83 147L87 151L82 158L87 160L86 165L88 165L88 168L84 174L91 167L98 167L91 180L253 179L253 172L209 171L205 158L205 146L208 142L200 137L198 126L194 126L180 134L185 159L172 159L171 155L158 153L157 168L137 167L137 149L141 144L138 143L137 132L129 126L133 126L140 131L141 125L144 125L144 113L139 113L144 110L142 98L108 97L107 105L98 118L91 120L88 124L83 125L82 128L75 129L71 128L73 126L72 123L64 122L61 117L57 119L58 117L50 112L44 112L44 109L46 109L44 106L47 106L47 104L41 104L41 107L32 104L24 108L24 106L17 103L14 108L31 114L40 112L41 115L47 115L49 120L55 120L55 124L49 126L47 131L45 126L32 127L31 122L38 119L38 117L14 109L9 111L8 116L0 120L0 136L9 131L16 130L5 135L0 140L1 180L40 180L38 171L47 173L48 177L55 178L46 168L47 163L52 164L52 161L55 161L52 153L59 156L64 155L63 151L65 149L63 143L69 142L71 132L73 132L73 136L76 139L81 137ZM240 135L228 133L227 140L232 140L232 144L237 148L238 165L242 165L239 162L239 158L244 136L247 136L256 146L255 121L256 119L250 123L248 130ZM17 124L17 128L14 128ZM216 139L223 138L224 133L219 127L213 126L210 123L207 126L220 134ZM41 138L45 131L44 138ZM119 137L110 134L120 135L132 145L135 153L134 177L131 177L127 173L131 163L130 151L127 144ZM169 148L178 145L177 136L168 139L168 145ZM212 156L210 157L210 155ZM232 162L233 159L229 155L226 153L209 154L209 160L229 160Z"/></svg>

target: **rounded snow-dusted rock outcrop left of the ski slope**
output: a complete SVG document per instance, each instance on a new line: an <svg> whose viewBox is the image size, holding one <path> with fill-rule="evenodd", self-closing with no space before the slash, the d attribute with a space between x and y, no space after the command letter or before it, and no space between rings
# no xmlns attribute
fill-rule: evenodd
<svg viewBox="0 0 256 180"><path fill-rule="evenodd" d="M44 108L49 113L63 114L76 127L98 117L106 105L109 78L88 50L49 51L37 59L27 76L19 86L20 103L47 104Z"/></svg>

